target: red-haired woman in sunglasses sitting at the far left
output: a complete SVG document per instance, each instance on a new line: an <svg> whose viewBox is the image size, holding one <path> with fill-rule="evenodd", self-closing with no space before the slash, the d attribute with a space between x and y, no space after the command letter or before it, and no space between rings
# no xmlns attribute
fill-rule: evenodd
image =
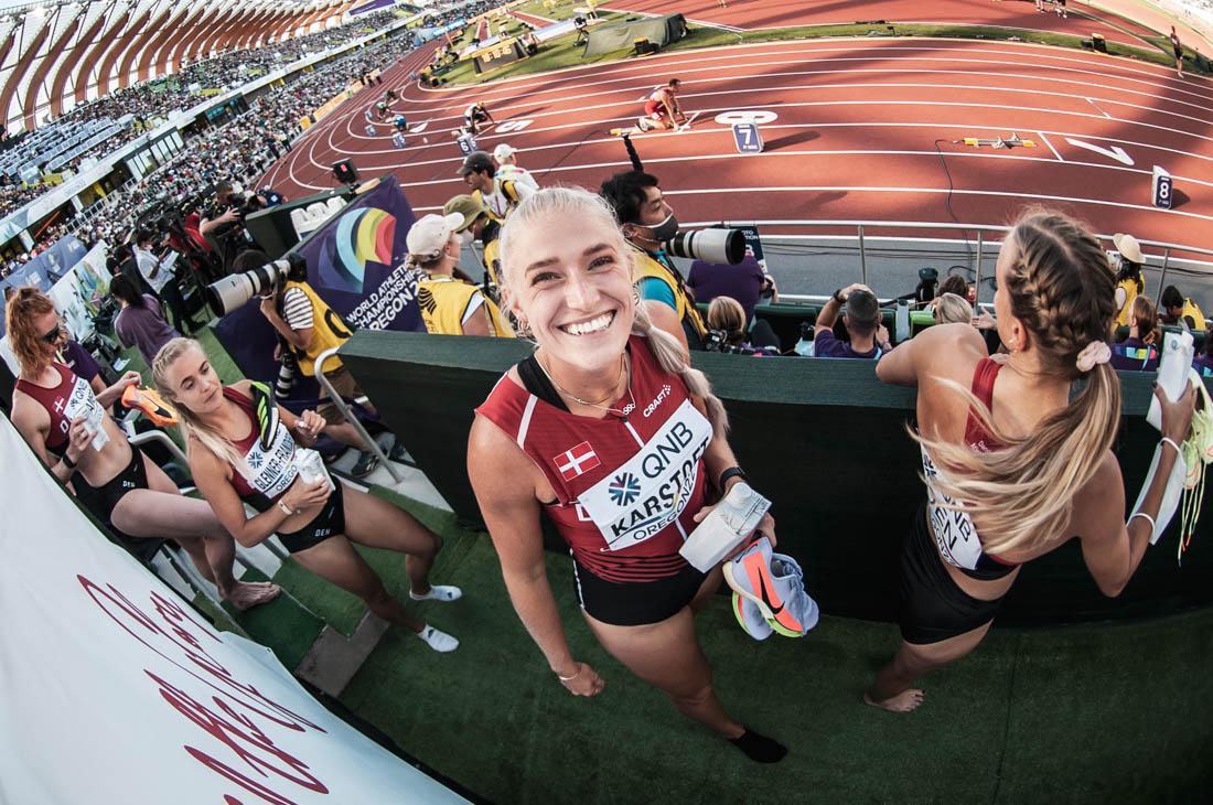
<svg viewBox="0 0 1213 805"><path fill-rule="evenodd" d="M235 546L210 508L188 498L159 466L126 440L109 407L137 372L98 394L89 382L56 360L63 324L50 297L38 289L17 291L7 306L8 336L21 364L12 395L12 423L51 474L75 493L118 541L149 559L152 539L172 539L220 595L244 610L280 592L277 584L238 582L232 575ZM93 449L101 422L104 438Z"/></svg>

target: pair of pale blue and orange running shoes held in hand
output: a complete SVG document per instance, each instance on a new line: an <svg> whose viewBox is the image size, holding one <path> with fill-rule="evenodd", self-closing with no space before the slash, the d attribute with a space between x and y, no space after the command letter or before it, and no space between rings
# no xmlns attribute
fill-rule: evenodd
<svg viewBox="0 0 1213 805"><path fill-rule="evenodd" d="M804 573L795 559L775 553L761 536L724 563L733 588L733 615L754 640L771 633L803 638L818 624L818 604L804 592Z"/></svg>

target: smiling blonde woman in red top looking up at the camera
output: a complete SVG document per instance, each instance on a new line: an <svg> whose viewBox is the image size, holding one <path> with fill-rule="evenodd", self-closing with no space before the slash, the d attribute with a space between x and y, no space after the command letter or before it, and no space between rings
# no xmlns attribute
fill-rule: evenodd
<svg viewBox="0 0 1213 805"><path fill-rule="evenodd" d="M786 749L724 712L695 638L693 612L721 570L705 576L678 554L708 485L740 481L725 473L736 462L724 409L688 365L673 312L654 322L637 304L631 252L610 207L581 189L540 190L506 221L502 299L537 349L477 409L472 486L514 609L570 692L593 696L603 680L569 650L541 512L571 548L603 647L684 715L774 763ZM774 520L761 529L773 536Z"/></svg>

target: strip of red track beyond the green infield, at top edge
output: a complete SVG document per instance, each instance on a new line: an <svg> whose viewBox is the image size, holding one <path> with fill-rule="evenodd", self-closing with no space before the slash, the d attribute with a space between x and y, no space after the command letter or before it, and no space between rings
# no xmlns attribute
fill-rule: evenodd
<svg viewBox="0 0 1213 805"><path fill-rule="evenodd" d="M1124 2L1124 0L1121 0ZM827 25L871 19L888 22L959 23L1003 25L1090 36L1103 34L1109 41L1141 46L1139 36L1154 34L1143 25L1126 23L1080 0L1070 0L1070 16L1040 13L1032 0L865 0L864 2L807 2L805 0L729 0L721 8L716 0L613 0L611 11L680 13L688 19L735 28L785 28ZM1139 17L1132 16L1133 19Z"/></svg>

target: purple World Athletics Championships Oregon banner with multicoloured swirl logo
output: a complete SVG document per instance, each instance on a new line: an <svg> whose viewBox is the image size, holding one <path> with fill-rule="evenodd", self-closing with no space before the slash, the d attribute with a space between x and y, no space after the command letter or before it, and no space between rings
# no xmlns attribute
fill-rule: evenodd
<svg viewBox="0 0 1213 805"><path fill-rule="evenodd" d="M412 207L394 176L358 196L292 251L307 261L308 284L355 330L425 331L417 280L405 267L404 238ZM215 326L215 335L246 377L272 382L275 333L250 299ZM296 381L290 399L319 395L311 379Z"/></svg>

